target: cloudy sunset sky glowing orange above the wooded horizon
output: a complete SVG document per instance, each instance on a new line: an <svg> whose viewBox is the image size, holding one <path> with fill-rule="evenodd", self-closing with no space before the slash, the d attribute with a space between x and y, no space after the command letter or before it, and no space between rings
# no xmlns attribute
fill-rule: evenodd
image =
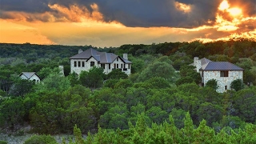
<svg viewBox="0 0 256 144"><path fill-rule="evenodd" d="M0 0L0 42L122 46L256 39L256 0Z"/></svg>

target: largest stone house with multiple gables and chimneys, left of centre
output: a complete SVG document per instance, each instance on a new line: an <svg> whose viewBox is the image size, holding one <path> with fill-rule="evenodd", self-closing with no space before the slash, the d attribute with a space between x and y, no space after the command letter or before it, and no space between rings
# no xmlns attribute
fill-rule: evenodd
<svg viewBox="0 0 256 144"><path fill-rule="evenodd" d="M98 52L94 49L85 51L78 50L78 54L70 57L71 73L80 74L83 70L90 70L93 66L102 67L105 74L109 74L114 69L122 70L122 72L130 75L132 62L128 61L127 54L123 54L123 58L106 52Z"/></svg>

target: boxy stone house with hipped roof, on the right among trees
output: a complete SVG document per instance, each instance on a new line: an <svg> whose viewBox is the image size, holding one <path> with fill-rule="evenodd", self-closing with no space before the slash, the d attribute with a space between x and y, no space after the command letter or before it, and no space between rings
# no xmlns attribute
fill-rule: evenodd
<svg viewBox="0 0 256 144"><path fill-rule="evenodd" d="M243 79L243 69L230 62L212 62L207 58L198 59L194 57L194 63L191 65L196 67L198 73L202 77L202 86L215 79L218 83L218 93L230 90L231 82L237 79Z"/></svg>

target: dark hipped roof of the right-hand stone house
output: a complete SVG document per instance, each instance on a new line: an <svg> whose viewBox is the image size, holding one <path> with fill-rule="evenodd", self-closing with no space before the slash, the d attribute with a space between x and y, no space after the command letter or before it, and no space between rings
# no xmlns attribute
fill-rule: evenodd
<svg viewBox="0 0 256 144"><path fill-rule="evenodd" d="M208 62L203 70L243 70L230 62Z"/></svg>

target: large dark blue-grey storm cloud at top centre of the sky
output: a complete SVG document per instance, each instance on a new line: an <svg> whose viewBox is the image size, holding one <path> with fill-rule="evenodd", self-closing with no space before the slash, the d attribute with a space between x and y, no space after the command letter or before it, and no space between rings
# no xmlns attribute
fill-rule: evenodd
<svg viewBox="0 0 256 144"><path fill-rule="evenodd" d="M175 2L190 4L190 13L177 10ZM214 21L221 1L113 0L97 1L106 22L118 21L126 26L194 27Z"/></svg>

